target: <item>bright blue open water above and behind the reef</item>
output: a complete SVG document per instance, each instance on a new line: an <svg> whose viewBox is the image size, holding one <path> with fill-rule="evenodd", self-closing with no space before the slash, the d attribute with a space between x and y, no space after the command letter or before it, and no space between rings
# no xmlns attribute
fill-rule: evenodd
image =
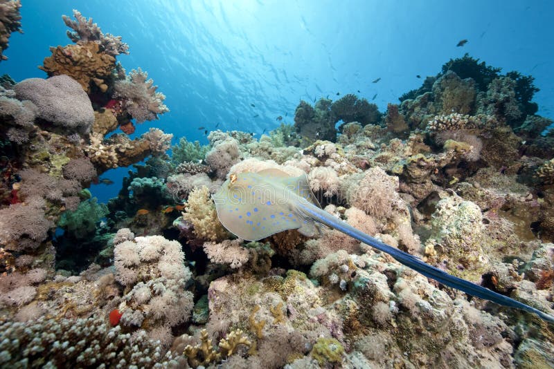
<svg viewBox="0 0 554 369"><path fill-rule="evenodd" d="M69 1L23 0L23 35L14 34L0 73L46 77L48 46L71 44L61 16L76 8L102 32L120 35L129 72L147 70L170 113L137 127L159 127L207 143L199 126L262 133L292 123L298 101L356 93L381 111L470 53L487 64L535 77L539 114L554 115L552 1ZM463 47L456 47L468 39ZM421 75L418 79L415 75ZM373 84L377 78L381 80ZM360 93L357 93L357 91ZM255 107L252 107L254 104ZM258 117L254 117L259 115ZM259 136L258 136L259 137ZM128 169L93 187L105 201Z"/></svg>

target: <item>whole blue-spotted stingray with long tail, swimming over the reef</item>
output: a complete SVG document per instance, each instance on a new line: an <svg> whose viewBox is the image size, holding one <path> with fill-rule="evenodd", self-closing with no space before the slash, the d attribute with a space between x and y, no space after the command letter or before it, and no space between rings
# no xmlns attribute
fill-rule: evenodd
<svg viewBox="0 0 554 369"><path fill-rule="evenodd" d="M386 252L396 261L443 285L499 305L537 314L541 319L554 323L554 316L443 272L332 216L319 206L305 175L294 178L279 169L232 174L213 195L213 200L222 225L244 240L260 240L287 229L297 229L305 236L315 236L319 233L319 225L325 225Z"/></svg>

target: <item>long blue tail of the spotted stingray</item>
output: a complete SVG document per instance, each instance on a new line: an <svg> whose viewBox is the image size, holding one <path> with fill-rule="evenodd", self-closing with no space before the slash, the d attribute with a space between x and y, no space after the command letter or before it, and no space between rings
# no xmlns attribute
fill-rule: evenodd
<svg viewBox="0 0 554 369"><path fill-rule="evenodd" d="M325 210L316 208L305 208L303 209L303 211L305 211L307 214L310 214L310 216L316 218L321 223L328 225L329 227L337 229L344 234L348 234L348 236L356 238L360 242L375 247L375 249L386 252L386 254L391 255L398 262L406 265L406 267L410 267L411 269L423 274L424 276L427 276L428 278L443 283L443 285L456 288L456 290L460 290L472 296L479 297L480 299L492 301L493 303L497 303L499 305L508 306L510 308L517 308L525 310L526 312L537 314L541 319L554 323L554 316L546 314L545 312L542 312L517 300L511 299L508 296L504 296L503 294L499 294L497 292L489 290L488 288L485 288L481 285L476 285L475 283L466 281L465 279L452 276L451 274L448 274L443 270L440 270L432 265L425 263L420 258L407 254L406 252L402 252L399 249L382 243L381 241L369 236L368 234L364 234L364 232L361 232L358 229L351 227L347 223L335 218L331 214L328 214Z"/></svg>

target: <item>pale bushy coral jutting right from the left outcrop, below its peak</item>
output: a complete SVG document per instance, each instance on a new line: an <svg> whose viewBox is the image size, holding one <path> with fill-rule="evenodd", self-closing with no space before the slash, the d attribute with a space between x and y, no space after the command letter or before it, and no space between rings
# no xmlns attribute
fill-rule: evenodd
<svg viewBox="0 0 554 369"><path fill-rule="evenodd" d="M154 81L147 79L148 73L141 68L133 69L122 81L114 85L114 98L123 102L127 111L137 123L146 120L157 120L158 114L167 113L168 107L163 104L166 96L156 92L158 86L152 86Z"/></svg>

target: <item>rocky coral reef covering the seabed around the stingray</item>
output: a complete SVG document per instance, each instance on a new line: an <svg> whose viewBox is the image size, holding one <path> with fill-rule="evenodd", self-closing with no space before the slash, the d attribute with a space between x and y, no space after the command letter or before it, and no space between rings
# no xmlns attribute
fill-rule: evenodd
<svg viewBox="0 0 554 369"><path fill-rule="evenodd" d="M2 49L19 6L0 4ZM260 171L301 177L287 185L311 189L321 216L553 314L554 135L533 77L465 55L384 115L353 94L301 101L294 126L206 131L207 145L179 138L168 156L170 134L129 138L168 112L165 96L140 68L125 75L121 37L73 16L74 44L44 60L50 78L0 88L0 366L553 365L554 331L533 314L301 212L301 229L233 230L265 237L248 242L211 198ZM91 196L131 165L107 205Z"/></svg>

